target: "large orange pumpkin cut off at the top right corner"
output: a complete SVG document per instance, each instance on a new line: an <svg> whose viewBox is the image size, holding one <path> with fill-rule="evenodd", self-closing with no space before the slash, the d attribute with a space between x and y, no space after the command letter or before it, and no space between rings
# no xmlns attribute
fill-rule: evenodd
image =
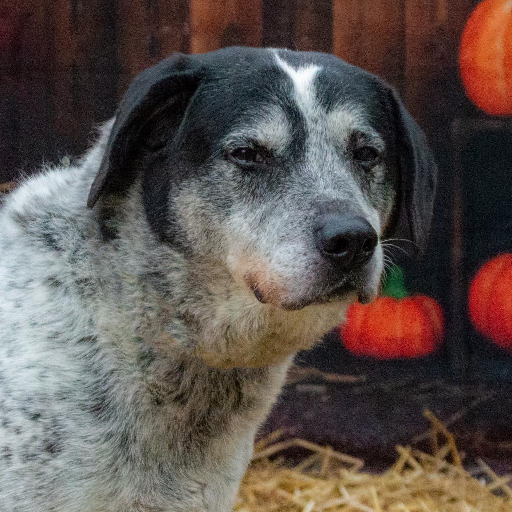
<svg viewBox="0 0 512 512"><path fill-rule="evenodd" d="M467 95L491 115L512 115L512 2L484 0L462 34L460 71Z"/></svg>

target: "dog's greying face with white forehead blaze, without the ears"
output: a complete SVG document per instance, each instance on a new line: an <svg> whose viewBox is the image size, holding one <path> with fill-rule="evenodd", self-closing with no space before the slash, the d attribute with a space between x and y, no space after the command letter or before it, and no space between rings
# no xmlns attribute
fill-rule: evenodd
<svg viewBox="0 0 512 512"><path fill-rule="evenodd" d="M180 164L196 170L177 205L190 246L219 244L234 279L284 309L374 298L397 196L383 98L330 60L269 52L227 67L181 127Z"/></svg>

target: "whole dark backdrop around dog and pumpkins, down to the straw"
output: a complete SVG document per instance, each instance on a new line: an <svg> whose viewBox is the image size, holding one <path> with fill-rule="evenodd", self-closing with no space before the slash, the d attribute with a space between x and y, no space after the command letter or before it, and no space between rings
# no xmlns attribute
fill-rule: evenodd
<svg viewBox="0 0 512 512"><path fill-rule="evenodd" d="M382 363L350 356L334 334L300 361L364 383L329 385L327 395L315 379L316 391L291 387L268 428L302 425L295 432L303 437L365 454L425 428L425 407L444 419L467 410L475 414L452 422L459 437L473 447L484 439L478 446L492 450L499 441L503 452L512 439L511 390L503 385L512 379L512 357L476 335L466 315L474 273L499 251L512 251L510 122L493 127L467 100L458 71L460 37L477 3L0 0L0 182L82 153L131 79L172 52L230 45L323 51L382 76L401 93L439 163L430 248L406 264L406 278L411 291L443 306L445 345L430 358ZM463 141L455 120L470 120Z"/></svg>

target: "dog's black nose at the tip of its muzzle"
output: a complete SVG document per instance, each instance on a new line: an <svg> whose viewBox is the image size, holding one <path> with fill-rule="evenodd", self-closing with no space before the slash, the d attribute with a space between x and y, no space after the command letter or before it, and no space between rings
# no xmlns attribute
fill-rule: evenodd
<svg viewBox="0 0 512 512"><path fill-rule="evenodd" d="M331 213L323 215L317 226L319 249L345 267L367 262L379 241L371 224L362 217Z"/></svg>

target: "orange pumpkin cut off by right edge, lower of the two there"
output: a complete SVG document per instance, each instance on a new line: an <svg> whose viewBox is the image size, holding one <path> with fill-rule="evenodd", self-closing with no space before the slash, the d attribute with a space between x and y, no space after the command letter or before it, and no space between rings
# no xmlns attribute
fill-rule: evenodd
<svg viewBox="0 0 512 512"><path fill-rule="evenodd" d="M487 262L470 287L470 317L484 336L512 350L512 254Z"/></svg>

